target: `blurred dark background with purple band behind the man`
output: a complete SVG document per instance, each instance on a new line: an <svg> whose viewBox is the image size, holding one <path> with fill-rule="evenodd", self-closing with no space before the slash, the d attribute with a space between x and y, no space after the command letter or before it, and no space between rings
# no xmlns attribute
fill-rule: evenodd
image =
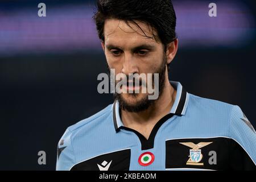
<svg viewBox="0 0 256 182"><path fill-rule="evenodd" d="M213 1L210 17L211 2L173 1L180 47L170 78L239 105L256 127L255 2ZM65 129L112 104L97 92L106 63L93 9L94 1L0 1L0 170L54 170Z"/></svg>

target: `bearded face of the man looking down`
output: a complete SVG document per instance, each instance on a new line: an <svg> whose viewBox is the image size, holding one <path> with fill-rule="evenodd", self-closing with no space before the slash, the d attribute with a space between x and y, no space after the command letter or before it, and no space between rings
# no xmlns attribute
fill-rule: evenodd
<svg viewBox="0 0 256 182"><path fill-rule="evenodd" d="M115 75L124 73L159 73L159 95L162 93L166 73L166 56L164 55L163 44L153 38L151 27L147 24L137 22L143 31L135 24L126 24L122 20L108 19L104 26L105 42L102 43L106 60L110 69L115 69ZM156 32L154 32L155 35ZM154 79L154 78L153 78ZM145 80L147 83L148 80ZM154 82L154 80L153 80ZM117 82L116 82L117 84ZM127 111L138 112L147 109L155 100L148 100L148 93L142 93L142 85L123 88L127 93L117 94L119 105ZM139 89L136 94L128 93L129 90Z"/></svg>

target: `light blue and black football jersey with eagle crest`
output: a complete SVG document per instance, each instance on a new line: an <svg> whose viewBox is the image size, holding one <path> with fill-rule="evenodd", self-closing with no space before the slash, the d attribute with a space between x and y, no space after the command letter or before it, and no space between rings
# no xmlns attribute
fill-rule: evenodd
<svg viewBox="0 0 256 182"><path fill-rule="evenodd" d="M240 107L177 90L148 140L123 126L118 101L68 127L57 170L256 169L256 133Z"/></svg>

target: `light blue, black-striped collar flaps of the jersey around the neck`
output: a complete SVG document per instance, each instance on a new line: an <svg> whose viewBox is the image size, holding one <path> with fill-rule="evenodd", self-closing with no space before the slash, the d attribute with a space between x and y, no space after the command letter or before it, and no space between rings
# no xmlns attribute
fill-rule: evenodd
<svg viewBox="0 0 256 182"><path fill-rule="evenodd" d="M170 81L170 84L174 87L175 90L177 90L174 105L172 106L170 113L180 116L185 115L185 111L187 110L188 106L189 94L183 88L180 82ZM117 100L114 101L112 109L115 131L119 131L119 128L123 126L123 123L119 114L119 103Z"/></svg>

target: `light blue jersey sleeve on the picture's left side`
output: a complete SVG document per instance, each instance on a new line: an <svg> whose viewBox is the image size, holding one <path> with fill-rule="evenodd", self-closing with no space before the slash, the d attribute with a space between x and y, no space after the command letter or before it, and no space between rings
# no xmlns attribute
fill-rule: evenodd
<svg viewBox="0 0 256 182"><path fill-rule="evenodd" d="M72 133L67 129L57 145L57 171L68 171L75 164L71 136Z"/></svg>

